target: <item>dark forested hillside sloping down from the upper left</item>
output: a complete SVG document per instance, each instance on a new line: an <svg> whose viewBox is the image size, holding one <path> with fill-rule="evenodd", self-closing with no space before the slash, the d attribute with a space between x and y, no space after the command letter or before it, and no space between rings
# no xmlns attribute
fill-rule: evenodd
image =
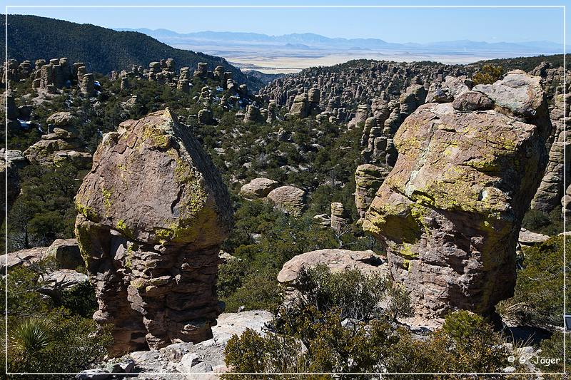
<svg viewBox="0 0 571 380"><path fill-rule="evenodd" d="M0 41L4 43L4 17L1 17ZM4 49L4 46L2 46ZM211 69L218 65L232 71L234 78L248 86L258 87L257 78L248 78L226 59L173 48L166 43L137 31L114 31L91 24L39 16L8 16L8 57L19 61L38 58L68 57L74 62L84 62L89 71L109 73L112 70L130 69L133 64L148 67L148 63L173 58L176 68L196 68L198 62L206 62Z"/></svg>

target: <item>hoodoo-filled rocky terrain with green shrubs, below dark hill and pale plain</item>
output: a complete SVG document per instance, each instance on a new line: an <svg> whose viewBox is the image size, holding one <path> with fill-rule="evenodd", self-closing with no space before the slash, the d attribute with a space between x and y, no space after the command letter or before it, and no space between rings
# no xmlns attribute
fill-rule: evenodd
<svg viewBox="0 0 571 380"><path fill-rule="evenodd" d="M6 368L513 374L564 342L562 56L100 73L71 47L0 68ZM54 339L14 350L28 327Z"/></svg>

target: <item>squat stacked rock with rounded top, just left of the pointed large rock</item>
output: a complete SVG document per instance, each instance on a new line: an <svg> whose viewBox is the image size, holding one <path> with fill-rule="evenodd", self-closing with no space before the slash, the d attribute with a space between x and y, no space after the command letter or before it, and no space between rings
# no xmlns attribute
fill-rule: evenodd
<svg viewBox="0 0 571 380"><path fill-rule="evenodd" d="M78 168L89 168L91 154L85 151L79 130L74 127L76 118L69 112L57 112L47 118L46 123L49 133L24 151L26 158L41 165L69 162Z"/></svg>

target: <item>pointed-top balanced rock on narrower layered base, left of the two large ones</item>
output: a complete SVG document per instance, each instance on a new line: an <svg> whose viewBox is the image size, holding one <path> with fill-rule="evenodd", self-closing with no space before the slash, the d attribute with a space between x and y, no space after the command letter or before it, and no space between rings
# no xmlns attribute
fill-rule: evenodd
<svg viewBox="0 0 571 380"><path fill-rule="evenodd" d="M104 136L76 207L94 319L113 324L112 355L211 337L232 209L211 160L168 108Z"/></svg>

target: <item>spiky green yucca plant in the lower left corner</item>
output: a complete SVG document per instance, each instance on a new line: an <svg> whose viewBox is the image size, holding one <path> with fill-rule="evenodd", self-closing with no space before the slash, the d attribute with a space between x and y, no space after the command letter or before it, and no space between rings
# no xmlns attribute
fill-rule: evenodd
<svg viewBox="0 0 571 380"><path fill-rule="evenodd" d="M16 324L9 333L10 356L26 359L35 356L51 342L49 323L43 319L26 318Z"/></svg>

